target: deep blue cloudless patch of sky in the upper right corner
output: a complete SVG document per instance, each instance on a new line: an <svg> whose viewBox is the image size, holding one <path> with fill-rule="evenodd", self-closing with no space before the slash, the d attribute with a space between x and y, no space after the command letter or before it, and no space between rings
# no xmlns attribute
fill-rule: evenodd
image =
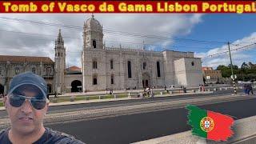
<svg viewBox="0 0 256 144"><path fill-rule="evenodd" d="M255 14L206 14L186 38L234 42L254 32L255 22Z"/></svg>

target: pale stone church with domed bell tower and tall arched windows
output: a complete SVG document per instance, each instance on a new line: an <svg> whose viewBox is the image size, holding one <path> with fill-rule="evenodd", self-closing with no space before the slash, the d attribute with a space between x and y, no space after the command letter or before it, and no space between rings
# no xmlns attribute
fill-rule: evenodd
<svg viewBox="0 0 256 144"><path fill-rule="evenodd" d="M102 26L92 16L83 31L83 91L202 84L201 59L193 52L110 48L102 39Z"/></svg>

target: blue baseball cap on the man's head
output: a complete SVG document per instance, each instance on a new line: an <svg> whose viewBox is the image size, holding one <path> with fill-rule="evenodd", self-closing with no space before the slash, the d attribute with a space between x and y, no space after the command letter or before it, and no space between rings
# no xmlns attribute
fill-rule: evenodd
<svg viewBox="0 0 256 144"><path fill-rule="evenodd" d="M14 92L14 90L18 90L20 88L26 88L26 87L33 88L35 87L37 90L39 89L42 94L41 97L47 98L47 85L46 81L38 76L37 74L34 74L32 72L25 72L22 74L18 74L14 76L12 81L10 82L10 89L8 91L8 94L11 94Z"/></svg>

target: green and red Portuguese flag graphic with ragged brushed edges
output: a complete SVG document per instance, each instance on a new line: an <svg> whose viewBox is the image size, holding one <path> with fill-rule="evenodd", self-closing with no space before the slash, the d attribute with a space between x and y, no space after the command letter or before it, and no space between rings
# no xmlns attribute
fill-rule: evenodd
<svg viewBox="0 0 256 144"><path fill-rule="evenodd" d="M192 126L192 134L214 141L226 141L234 134L230 130L233 118L192 105L186 106L186 109L189 110L188 123Z"/></svg>

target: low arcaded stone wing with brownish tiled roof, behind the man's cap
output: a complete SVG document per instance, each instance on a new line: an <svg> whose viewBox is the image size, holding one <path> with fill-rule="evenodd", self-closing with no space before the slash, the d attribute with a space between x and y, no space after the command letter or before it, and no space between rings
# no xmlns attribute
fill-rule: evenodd
<svg viewBox="0 0 256 144"><path fill-rule="evenodd" d="M9 90L10 81L16 74L32 71L47 82L48 91L54 90L54 62L47 57L0 55L0 85Z"/></svg>

